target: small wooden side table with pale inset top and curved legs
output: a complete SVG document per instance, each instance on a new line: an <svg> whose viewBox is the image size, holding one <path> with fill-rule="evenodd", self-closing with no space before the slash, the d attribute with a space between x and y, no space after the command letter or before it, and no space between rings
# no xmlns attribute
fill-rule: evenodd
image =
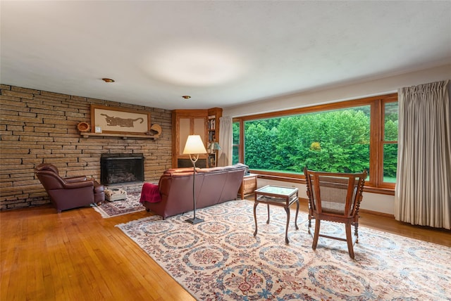
<svg viewBox="0 0 451 301"><path fill-rule="evenodd" d="M296 203L296 217L295 217L295 227L296 230L299 229L297 226L297 214L299 213L299 198L297 196L297 188L294 187L283 187L283 186L273 186L266 185L255 191L255 201L254 201L254 220L255 220L255 232L254 236L257 236L257 205L259 203L264 203L268 206L268 220L266 224L269 224L269 205L276 205L283 207L285 212L287 212L287 226L285 228L285 243L290 243L288 241L288 225L290 224L290 206Z"/></svg>

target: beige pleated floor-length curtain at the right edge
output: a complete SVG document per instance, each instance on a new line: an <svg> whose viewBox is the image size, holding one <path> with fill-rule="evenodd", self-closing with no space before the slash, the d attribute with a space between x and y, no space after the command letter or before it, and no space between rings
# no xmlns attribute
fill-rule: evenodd
<svg viewBox="0 0 451 301"><path fill-rule="evenodd" d="M395 218L451 228L451 116L448 82L398 91Z"/></svg>

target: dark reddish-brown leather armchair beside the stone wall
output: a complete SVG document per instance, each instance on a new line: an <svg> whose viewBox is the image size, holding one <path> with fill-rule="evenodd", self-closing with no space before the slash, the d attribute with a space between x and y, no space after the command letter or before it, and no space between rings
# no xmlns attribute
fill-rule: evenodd
<svg viewBox="0 0 451 301"><path fill-rule="evenodd" d="M104 186L86 176L61 178L56 166L49 163L35 167L35 174L58 213L105 200Z"/></svg>

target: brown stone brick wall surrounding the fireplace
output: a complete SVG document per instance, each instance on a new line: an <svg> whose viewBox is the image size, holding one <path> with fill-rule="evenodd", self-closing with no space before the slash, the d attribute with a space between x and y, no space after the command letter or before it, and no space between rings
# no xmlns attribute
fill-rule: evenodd
<svg viewBox="0 0 451 301"><path fill-rule="evenodd" d="M34 167L42 162L56 165L61 177L86 175L98 181L102 153L144 153L144 181L158 181L172 166L171 110L4 84L0 84L0 103L1 210L49 203L34 174ZM162 134L158 139L82 138L77 124L91 124L91 103L146 110ZM130 185L125 188L139 190Z"/></svg>

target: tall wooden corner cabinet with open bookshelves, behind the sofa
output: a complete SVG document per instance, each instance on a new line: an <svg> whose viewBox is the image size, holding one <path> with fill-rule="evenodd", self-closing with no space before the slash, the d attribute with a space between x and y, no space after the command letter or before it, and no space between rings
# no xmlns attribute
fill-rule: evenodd
<svg viewBox="0 0 451 301"><path fill-rule="evenodd" d="M214 118L209 116L214 115ZM222 115L221 108L209 110L173 110L173 160L172 165L176 167L192 167L190 155L184 155L183 149L189 135L199 135L204 141L205 148L209 142L219 139L219 117ZM214 128L210 127L210 120L214 119ZM215 140L210 140L215 139ZM207 154L199 155L196 162L197 167L207 167Z"/></svg>

